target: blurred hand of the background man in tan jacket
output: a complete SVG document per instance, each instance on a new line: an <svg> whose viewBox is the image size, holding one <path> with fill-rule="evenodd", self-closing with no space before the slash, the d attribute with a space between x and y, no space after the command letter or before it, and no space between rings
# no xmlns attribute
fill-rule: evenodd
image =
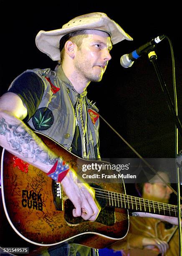
<svg viewBox="0 0 182 256"><path fill-rule="evenodd" d="M143 238L142 243L144 248L159 251L162 255L164 255L164 253L169 249L168 243L166 241L159 240L158 238L145 237Z"/></svg>

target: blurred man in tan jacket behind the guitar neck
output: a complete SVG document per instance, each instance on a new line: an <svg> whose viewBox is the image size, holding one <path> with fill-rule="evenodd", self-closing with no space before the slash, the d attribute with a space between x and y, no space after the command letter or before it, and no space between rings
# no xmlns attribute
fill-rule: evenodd
<svg viewBox="0 0 182 256"><path fill-rule="evenodd" d="M159 175L169 183L165 172L159 172ZM150 183L136 184L136 188L142 198L162 203L168 203L172 193L172 189L161 183L157 175ZM131 217L126 238L114 243L111 248L115 251L122 250L122 255L128 256L136 254L152 256L159 253L165 256L175 256L179 254L177 226L153 218Z"/></svg>

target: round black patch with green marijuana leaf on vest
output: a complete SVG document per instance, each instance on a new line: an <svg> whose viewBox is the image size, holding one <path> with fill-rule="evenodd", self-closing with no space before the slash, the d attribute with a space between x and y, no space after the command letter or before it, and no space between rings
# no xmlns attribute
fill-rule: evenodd
<svg viewBox="0 0 182 256"><path fill-rule="evenodd" d="M39 108L33 115L32 122L36 130L47 130L54 121L53 113L48 108Z"/></svg>

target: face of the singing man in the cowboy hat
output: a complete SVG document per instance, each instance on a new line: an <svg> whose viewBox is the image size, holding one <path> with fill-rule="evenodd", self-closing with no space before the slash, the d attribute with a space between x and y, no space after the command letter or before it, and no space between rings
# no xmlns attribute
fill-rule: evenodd
<svg viewBox="0 0 182 256"><path fill-rule="evenodd" d="M108 33L99 30L87 30L87 35L76 50L74 68L81 79L99 82L111 59L111 39Z"/></svg>

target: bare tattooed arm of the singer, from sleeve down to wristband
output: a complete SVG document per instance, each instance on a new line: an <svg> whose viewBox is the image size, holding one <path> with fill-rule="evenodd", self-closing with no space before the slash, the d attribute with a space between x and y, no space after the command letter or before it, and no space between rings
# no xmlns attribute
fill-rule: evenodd
<svg viewBox="0 0 182 256"><path fill-rule="evenodd" d="M0 146L48 173L58 156L23 123L26 115L18 95L8 92L0 98Z"/></svg>

